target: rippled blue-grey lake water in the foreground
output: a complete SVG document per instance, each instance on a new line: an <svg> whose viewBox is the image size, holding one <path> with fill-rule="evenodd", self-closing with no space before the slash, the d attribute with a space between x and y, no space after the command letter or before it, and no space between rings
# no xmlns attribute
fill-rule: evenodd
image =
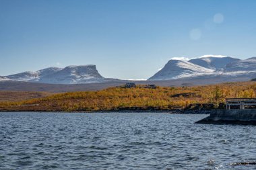
<svg viewBox="0 0 256 170"><path fill-rule="evenodd" d="M0 169L256 169L256 126L204 117L0 113Z"/></svg>

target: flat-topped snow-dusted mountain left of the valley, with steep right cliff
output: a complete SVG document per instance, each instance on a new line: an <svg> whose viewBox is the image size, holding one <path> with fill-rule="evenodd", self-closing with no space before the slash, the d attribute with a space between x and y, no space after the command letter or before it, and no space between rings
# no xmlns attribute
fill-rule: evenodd
<svg viewBox="0 0 256 170"><path fill-rule="evenodd" d="M54 84L101 83L109 80L98 73L95 65L68 66L64 69L49 67L36 72L26 71L0 77L0 79Z"/></svg>

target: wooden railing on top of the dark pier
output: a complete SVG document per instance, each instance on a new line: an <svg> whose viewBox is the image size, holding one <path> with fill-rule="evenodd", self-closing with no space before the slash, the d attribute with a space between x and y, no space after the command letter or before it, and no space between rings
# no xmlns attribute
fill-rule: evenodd
<svg viewBox="0 0 256 170"><path fill-rule="evenodd" d="M227 98L226 109L230 110L230 106L232 105L237 105L239 106L239 109L244 110L246 106L256 106L256 98Z"/></svg>

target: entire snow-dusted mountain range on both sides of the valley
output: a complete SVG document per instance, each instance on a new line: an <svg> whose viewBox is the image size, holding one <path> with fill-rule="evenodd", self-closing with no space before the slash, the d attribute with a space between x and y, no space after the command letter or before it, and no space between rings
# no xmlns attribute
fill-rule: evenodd
<svg viewBox="0 0 256 170"><path fill-rule="evenodd" d="M230 56L202 56L191 60L169 60L147 83L248 81L256 78L256 57L241 60ZM49 67L39 71L26 71L15 75L0 76L0 81L23 81L48 84L123 83L119 79L104 78L96 65ZM205 82L204 82L205 81ZM168 82L168 83L166 83ZM141 81L137 81L141 83Z"/></svg>

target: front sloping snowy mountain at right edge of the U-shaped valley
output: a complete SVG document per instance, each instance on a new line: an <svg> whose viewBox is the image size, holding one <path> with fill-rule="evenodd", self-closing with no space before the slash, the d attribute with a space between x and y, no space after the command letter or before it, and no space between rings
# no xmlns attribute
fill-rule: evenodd
<svg viewBox="0 0 256 170"><path fill-rule="evenodd" d="M194 65L185 60L169 60L164 68L158 71L154 76L150 77L149 80L178 79L212 72L213 70L211 69Z"/></svg>

